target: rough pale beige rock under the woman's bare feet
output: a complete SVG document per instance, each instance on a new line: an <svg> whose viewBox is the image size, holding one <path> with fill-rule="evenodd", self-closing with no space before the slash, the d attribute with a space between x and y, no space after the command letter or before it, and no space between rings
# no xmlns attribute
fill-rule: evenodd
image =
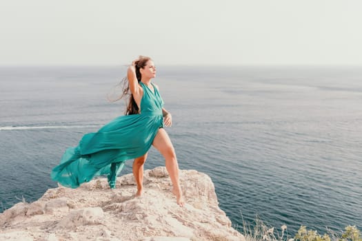
<svg viewBox="0 0 362 241"><path fill-rule="evenodd" d="M132 174L117 178L116 189L106 178L48 189L39 200L0 213L0 240L245 240L219 209L209 176L181 170L180 181L182 208L165 167L145 171L141 197L134 197Z"/></svg>

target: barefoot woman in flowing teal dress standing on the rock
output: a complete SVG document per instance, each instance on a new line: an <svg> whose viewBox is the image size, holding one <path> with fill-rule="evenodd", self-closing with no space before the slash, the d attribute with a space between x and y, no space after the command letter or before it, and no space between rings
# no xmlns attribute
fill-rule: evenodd
<svg viewBox="0 0 362 241"><path fill-rule="evenodd" d="M172 125L172 116L163 108L159 88L151 83L156 76L153 61L145 56L132 62L127 78L130 103L126 116L114 118L96 133L84 135L77 147L70 147L54 167L51 177L66 187L76 188L94 176L108 174L111 188L125 160L134 158L132 171L137 182L137 196L143 191L143 163L153 145L165 158L177 204L184 204L179 183L179 166L174 147L163 126ZM123 92L124 93L124 92Z"/></svg>

